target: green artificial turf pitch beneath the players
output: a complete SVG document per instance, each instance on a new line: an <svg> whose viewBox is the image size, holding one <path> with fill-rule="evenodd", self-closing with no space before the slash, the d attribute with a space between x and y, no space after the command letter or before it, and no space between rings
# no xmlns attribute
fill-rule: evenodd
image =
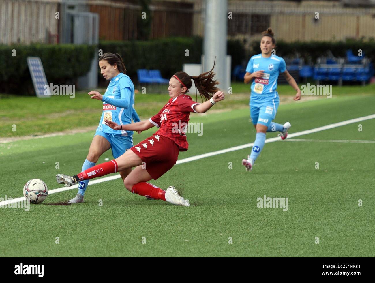
<svg viewBox="0 0 375 283"><path fill-rule="evenodd" d="M374 114L374 105L374 95L360 94L293 102L279 106L275 121L290 121L293 133ZM255 139L248 109L194 114L190 122L202 122L203 135L189 133L179 159ZM134 143L154 130L135 133ZM298 138L375 141L374 130L372 119ZM0 144L0 197L22 196L32 178L61 187L55 175L81 171L93 133ZM375 256L374 143L271 142L251 173L241 165L249 152L178 164L151 181L183 190L190 207L148 201L116 179L89 186L82 204L49 205L72 198L74 189L29 211L0 208L0 256ZM99 162L105 158L111 151ZM288 211L258 208L264 195L287 197Z"/></svg>

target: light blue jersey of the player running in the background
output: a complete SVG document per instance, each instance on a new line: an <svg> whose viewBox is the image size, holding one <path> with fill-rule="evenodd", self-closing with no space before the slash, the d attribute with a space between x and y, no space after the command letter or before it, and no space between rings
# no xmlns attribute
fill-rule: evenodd
<svg viewBox="0 0 375 283"><path fill-rule="evenodd" d="M278 95L279 73L285 72L287 66L283 58L271 55L264 58L262 54L254 55L250 58L246 72L253 73L264 70L262 78L255 78L251 84L251 100L262 102L275 99Z"/></svg>

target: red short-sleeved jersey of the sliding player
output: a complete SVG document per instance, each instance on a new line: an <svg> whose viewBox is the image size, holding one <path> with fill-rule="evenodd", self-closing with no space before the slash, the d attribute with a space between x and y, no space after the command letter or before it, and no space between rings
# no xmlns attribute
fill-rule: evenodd
<svg viewBox="0 0 375 283"><path fill-rule="evenodd" d="M194 106L200 104L186 94L169 99L164 107L148 119L156 127L160 127L156 134L171 139L180 151L186 151L189 144L186 141L186 128L190 112L196 112Z"/></svg>

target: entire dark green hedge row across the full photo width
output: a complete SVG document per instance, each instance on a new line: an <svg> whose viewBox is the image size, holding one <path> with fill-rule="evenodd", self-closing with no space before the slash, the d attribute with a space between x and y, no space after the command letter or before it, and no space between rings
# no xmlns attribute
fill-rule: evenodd
<svg viewBox="0 0 375 283"><path fill-rule="evenodd" d="M228 40L228 54L232 56L232 69L248 61L251 55L260 53L259 42L245 50L239 40ZM185 63L200 63L203 48L201 37L169 37L148 41L102 41L99 46L88 45L0 45L0 93L32 94L33 85L27 67L27 56L41 58L47 81L54 84L74 84L78 76L90 69L90 62L99 49L103 52L119 53L124 60L127 74L137 81L137 69L159 69L164 78L182 70ZM12 56L13 49L16 56ZM186 56L186 50L189 56ZM281 57L300 53L305 61L314 63L318 57L330 50L334 56L345 57L352 49L364 54L375 64L375 41L347 40L345 42L276 42L276 54ZM99 68L98 68L99 72ZM105 80L99 76L100 81Z"/></svg>

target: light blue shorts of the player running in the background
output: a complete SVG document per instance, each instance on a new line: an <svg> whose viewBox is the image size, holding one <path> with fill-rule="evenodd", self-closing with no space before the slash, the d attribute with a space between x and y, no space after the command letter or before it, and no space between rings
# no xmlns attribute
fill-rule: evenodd
<svg viewBox="0 0 375 283"><path fill-rule="evenodd" d="M272 100L250 101L250 117L254 125L269 126L276 117L279 108L279 96Z"/></svg>

